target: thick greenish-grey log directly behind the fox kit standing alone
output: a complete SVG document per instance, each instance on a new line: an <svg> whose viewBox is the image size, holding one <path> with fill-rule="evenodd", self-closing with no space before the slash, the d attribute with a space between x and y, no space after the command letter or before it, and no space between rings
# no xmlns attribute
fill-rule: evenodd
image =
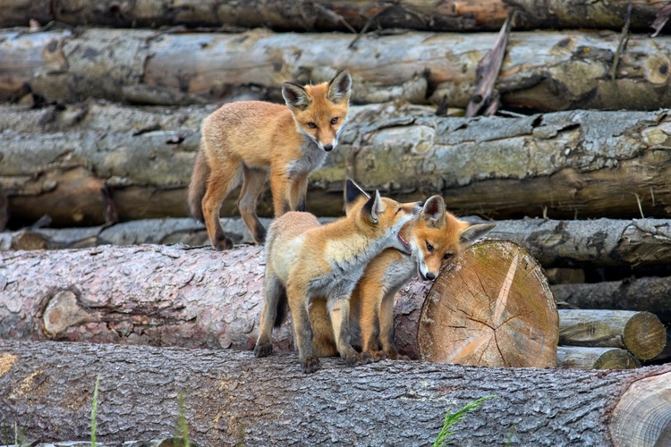
<svg viewBox="0 0 671 447"><path fill-rule="evenodd" d="M186 215L198 122L211 110L2 107L0 186L13 219L103 223L103 186L122 220ZM310 176L308 209L341 215L351 177L401 200L442 193L459 215L668 217L668 132L666 111L468 119L420 106L352 107L341 146ZM261 215L270 213L268 196ZM232 194L222 215L236 213L234 202Z"/></svg>

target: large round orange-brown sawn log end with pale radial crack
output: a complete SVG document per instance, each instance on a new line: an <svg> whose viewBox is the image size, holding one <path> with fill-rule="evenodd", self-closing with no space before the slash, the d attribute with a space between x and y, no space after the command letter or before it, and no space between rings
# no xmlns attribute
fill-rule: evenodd
<svg viewBox="0 0 671 447"><path fill-rule="evenodd" d="M556 367L559 323L539 264L510 241L482 240L441 274L421 308L420 359Z"/></svg>

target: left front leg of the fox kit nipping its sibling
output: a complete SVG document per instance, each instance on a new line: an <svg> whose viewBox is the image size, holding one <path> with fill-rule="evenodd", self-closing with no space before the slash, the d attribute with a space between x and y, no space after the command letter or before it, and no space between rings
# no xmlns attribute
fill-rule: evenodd
<svg viewBox="0 0 671 447"><path fill-rule="evenodd" d="M293 318L293 333L298 345L298 356L303 373L313 373L319 369L319 358L312 344L312 326L310 325L309 302L305 289L287 284L286 296Z"/></svg>

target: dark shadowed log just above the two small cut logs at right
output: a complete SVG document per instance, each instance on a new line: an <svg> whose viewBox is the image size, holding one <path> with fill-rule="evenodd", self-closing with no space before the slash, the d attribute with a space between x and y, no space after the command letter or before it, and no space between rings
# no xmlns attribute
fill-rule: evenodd
<svg viewBox="0 0 671 447"><path fill-rule="evenodd" d="M627 309L652 312L671 324L671 278L641 277L622 281L552 286L557 302L578 308Z"/></svg>

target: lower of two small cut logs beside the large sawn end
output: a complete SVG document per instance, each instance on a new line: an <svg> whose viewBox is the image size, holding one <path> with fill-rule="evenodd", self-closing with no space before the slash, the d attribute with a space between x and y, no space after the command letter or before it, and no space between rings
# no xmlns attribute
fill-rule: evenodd
<svg viewBox="0 0 671 447"><path fill-rule="evenodd" d="M619 348L558 346L556 366L580 369L632 369L641 367L638 358Z"/></svg>

